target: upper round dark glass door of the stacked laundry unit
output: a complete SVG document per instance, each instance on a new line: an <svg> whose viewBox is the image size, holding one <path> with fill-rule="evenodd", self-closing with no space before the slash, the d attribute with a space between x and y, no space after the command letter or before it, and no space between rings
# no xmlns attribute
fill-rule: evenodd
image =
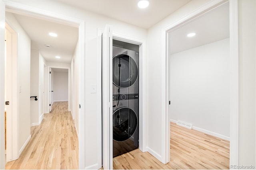
<svg viewBox="0 0 256 170"><path fill-rule="evenodd" d="M132 57L120 54L113 57L113 83L121 88L132 86L138 77L138 67Z"/></svg>

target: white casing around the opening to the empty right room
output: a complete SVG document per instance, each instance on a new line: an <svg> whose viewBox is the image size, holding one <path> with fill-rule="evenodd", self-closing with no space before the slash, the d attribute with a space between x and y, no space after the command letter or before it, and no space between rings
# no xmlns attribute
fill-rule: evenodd
<svg viewBox="0 0 256 170"><path fill-rule="evenodd" d="M164 94L164 99L166 102L164 102L164 117L163 119L168 119L168 121L165 121L165 125L164 129L165 129L165 136L163 137L163 140L166 141L164 143L165 148L168 148L170 146L170 115L168 114L168 110L171 108L170 104L170 80L169 80L169 74L170 74L170 67L168 66L169 63L169 55L170 55L170 40L169 35L172 31L174 31L175 29L177 29L178 27L180 27L181 25L185 25L186 23L188 23L189 21L193 20L193 19L197 19L198 16L201 16L203 14L205 14L208 11L213 10L214 8L221 6L225 3L229 3L230 6L230 60L229 60L229 64L231 65L231 74L229 74L230 77L230 164L236 164L237 162L237 156L238 156L238 152L237 152L237 140L238 140L238 136L236 133L236 128L237 128L237 120L238 120L238 74L234 75L232 73L237 73L238 72L238 51L237 51L237 1L222 1L222 2L212 2L209 3L207 6L204 6L203 8L193 12L192 14L190 14L189 16L186 16L184 18L182 18L181 20L178 20L176 23L173 23L171 25L168 25L164 30L163 30L163 35L164 35L164 44L165 44L165 48L163 51L163 57L164 57L164 61L166 61L166 64L163 68L163 75L165 77L165 90L164 92L167 92L166 94ZM166 51L165 51L166 50ZM168 149L167 151L164 151L164 161L163 162L168 162L170 160L170 150Z"/></svg>

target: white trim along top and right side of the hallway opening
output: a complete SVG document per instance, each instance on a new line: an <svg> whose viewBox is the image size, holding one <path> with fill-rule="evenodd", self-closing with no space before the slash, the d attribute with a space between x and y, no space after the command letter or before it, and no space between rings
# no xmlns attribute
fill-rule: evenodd
<svg viewBox="0 0 256 170"><path fill-rule="evenodd" d="M6 4L8 4L8 2L6 2ZM4 4L1 4L1 7L2 5ZM72 25L72 26L76 26L76 27L79 27L79 43L78 43L78 55L77 55L77 59L79 61L79 66L77 66L77 68L79 69L79 77L78 79L80 80L79 81L79 102L80 102L80 105L81 106L84 106L85 103L84 103L84 56L85 56L85 49L84 49L84 43L85 43L85 22L83 20L78 20L76 18L70 18L69 16L63 16L63 15L58 15L58 14L51 14L49 13L48 11L44 11L44 10L38 10L38 9L31 9L29 6L23 6L24 8L22 8L22 10L19 9L19 7L15 6L15 4L8 4L7 5L9 10L10 8L12 8L12 12L17 12L19 14L28 14L29 13L29 16L34 16L36 18L44 18L45 20L52 20L52 21L57 21L57 22L60 22L60 23L64 23L64 24L69 24L69 25ZM8 8L6 8L6 10L8 11ZM83 129L85 129L85 124L84 124L84 114L81 114L81 113L84 113L84 107L82 107L81 109L78 109L78 112L79 114L81 115L80 116L80 119L79 119L79 126L80 126L80 130L81 130L81 133L80 134L80 137L79 137L79 140L80 141L85 141L84 139L84 136L83 133ZM80 146L79 146L79 159L81 160L84 160L84 143L83 142L79 142L80 143ZM1 152L2 153L2 152ZM84 165L84 161L79 161L79 164L80 164L80 168L81 169L84 169L85 165Z"/></svg>

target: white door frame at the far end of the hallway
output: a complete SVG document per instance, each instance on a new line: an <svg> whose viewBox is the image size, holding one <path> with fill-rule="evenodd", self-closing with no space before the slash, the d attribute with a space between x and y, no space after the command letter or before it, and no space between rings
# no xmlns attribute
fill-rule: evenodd
<svg viewBox="0 0 256 170"><path fill-rule="evenodd" d="M51 104L51 100L50 100L50 95L51 95L51 76L50 76L50 72L52 72L51 68L61 68L61 69L68 69L68 111L70 111L70 80L71 80L71 75L70 75L70 67L60 67L60 66L47 66L47 95L49 96L47 99L47 110L50 110L50 106L49 104ZM52 104L51 104L52 106ZM74 118L73 118L74 119Z"/></svg>

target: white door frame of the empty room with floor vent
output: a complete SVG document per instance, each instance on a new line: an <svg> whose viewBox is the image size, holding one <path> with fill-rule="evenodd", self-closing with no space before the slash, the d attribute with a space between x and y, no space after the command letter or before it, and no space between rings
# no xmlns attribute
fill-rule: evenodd
<svg viewBox="0 0 256 170"><path fill-rule="evenodd" d="M162 162L170 162L170 117L168 115L168 33L180 25L220 6L230 4L230 165L238 164L238 0L212 0L162 29Z"/></svg>

